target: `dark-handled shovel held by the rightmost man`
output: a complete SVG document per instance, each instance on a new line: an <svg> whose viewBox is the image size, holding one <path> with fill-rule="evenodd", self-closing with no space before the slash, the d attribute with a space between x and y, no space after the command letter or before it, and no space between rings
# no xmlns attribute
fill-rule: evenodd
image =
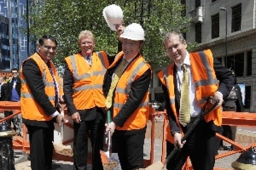
<svg viewBox="0 0 256 170"><path fill-rule="evenodd" d="M208 109L208 110L205 110L205 107L207 106L207 104L209 103L209 101L212 99L212 97L209 97L207 99L207 102L206 104L204 105L202 111L200 112L199 116L196 118L196 120L193 122L193 124L190 126L190 128L187 130L187 133L183 136L183 138L181 139L181 143L183 141L185 141L188 136L192 133L192 131L195 129L195 127L197 126L197 124L199 123L200 120L203 119L203 116L208 114L209 112L211 112L219 103L219 100L216 100L215 103ZM172 158L172 156L180 151L181 148L179 148L177 145L175 146L175 148L172 150L172 152L167 156L167 158L165 159L165 164L163 164L163 167L162 167L162 170L165 170L166 169L166 165L167 163L169 162L169 160Z"/></svg>

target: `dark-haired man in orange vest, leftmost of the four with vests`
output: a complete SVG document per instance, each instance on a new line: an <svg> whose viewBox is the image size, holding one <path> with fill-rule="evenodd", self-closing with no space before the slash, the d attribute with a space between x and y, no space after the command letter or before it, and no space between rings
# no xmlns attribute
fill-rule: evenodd
<svg viewBox="0 0 256 170"><path fill-rule="evenodd" d="M51 35L39 39L38 51L22 63L21 113L29 134L32 170L51 170L54 122L61 125L58 109L63 102L58 72L52 62L57 41Z"/></svg>

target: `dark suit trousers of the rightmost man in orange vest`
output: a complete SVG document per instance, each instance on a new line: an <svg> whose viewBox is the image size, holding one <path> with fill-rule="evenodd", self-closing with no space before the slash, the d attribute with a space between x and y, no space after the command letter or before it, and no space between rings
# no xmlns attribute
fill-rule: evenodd
<svg viewBox="0 0 256 170"><path fill-rule="evenodd" d="M190 128L192 123L185 126ZM177 152L168 162L168 170L181 170L187 157L190 157L194 170L212 170L215 163L215 155L219 149L220 139L215 132L208 128L207 123L201 120L191 135L187 138L180 152ZM174 149L174 145L167 141L167 155Z"/></svg>

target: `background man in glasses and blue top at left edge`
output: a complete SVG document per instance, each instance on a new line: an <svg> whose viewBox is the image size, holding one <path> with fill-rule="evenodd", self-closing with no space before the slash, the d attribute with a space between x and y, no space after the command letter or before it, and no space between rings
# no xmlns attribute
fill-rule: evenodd
<svg viewBox="0 0 256 170"><path fill-rule="evenodd" d="M6 85L6 92L4 93L5 96L2 97L3 101L12 101L12 102L19 102L20 101L20 88L21 88L21 81L20 78L18 77L18 69L13 68L11 70L12 72L12 78L7 82ZM12 114L11 111L5 111L4 116L10 116ZM15 118L12 119L13 122L13 129L21 135L21 117L16 116ZM7 121L9 125L11 125L11 119Z"/></svg>

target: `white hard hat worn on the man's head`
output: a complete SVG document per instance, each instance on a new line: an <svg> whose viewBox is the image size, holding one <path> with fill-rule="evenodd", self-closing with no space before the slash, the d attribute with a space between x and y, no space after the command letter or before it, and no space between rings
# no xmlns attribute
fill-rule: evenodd
<svg viewBox="0 0 256 170"><path fill-rule="evenodd" d="M127 26L120 35L121 38L131 39L131 40L145 40L144 38L144 30L138 23L132 23Z"/></svg>

